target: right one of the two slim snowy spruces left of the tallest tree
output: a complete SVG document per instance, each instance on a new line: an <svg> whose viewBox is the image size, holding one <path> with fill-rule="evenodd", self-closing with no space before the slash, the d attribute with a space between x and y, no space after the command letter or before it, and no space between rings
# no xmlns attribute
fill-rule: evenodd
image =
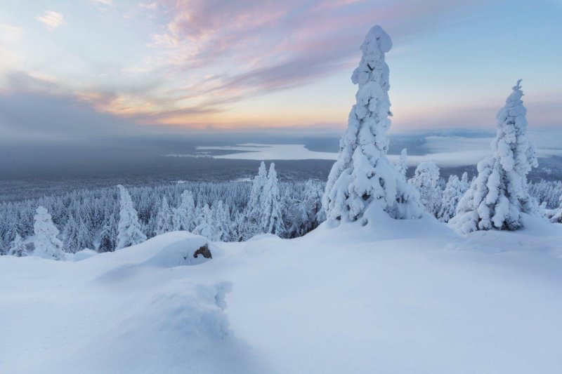
<svg viewBox="0 0 562 374"><path fill-rule="evenodd" d="M261 203L261 231L266 234L282 236L285 225L281 213L281 196L277 184L275 163L269 166L268 180L263 188L263 201Z"/></svg>

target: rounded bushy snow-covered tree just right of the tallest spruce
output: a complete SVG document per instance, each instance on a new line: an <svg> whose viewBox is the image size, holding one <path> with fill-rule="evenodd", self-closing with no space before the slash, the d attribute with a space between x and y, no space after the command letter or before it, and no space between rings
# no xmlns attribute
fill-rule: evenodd
<svg viewBox="0 0 562 374"><path fill-rule="evenodd" d="M426 211L436 216L441 205L439 168L436 163L433 161L419 163L414 176L408 182L419 191L419 199Z"/></svg>

